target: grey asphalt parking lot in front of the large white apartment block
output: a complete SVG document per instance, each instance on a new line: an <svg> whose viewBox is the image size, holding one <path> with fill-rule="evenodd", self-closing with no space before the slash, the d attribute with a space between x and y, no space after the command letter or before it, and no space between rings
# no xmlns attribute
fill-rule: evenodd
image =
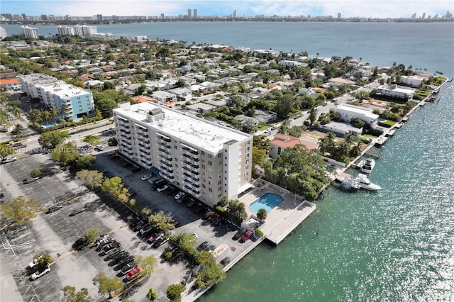
<svg viewBox="0 0 454 302"><path fill-rule="evenodd" d="M108 136L103 139L107 138ZM106 147L102 152L94 152L97 161L93 169L104 171L111 177L121 177L128 188L137 194L135 198L140 205L153 211L171 213L175 220L180 221L179 227L173 232L196 233L196 246L204 241L209 242L211 247L226 244L228 250L222 257L228 256L231 259L250 247L250 240L240 243L231 239L237 229L230 223L213 226L201 219L204 211L194 213L194 208L189 208L187 203L177 203L175 194L152 191L148 181L140 180L147 171L133 173L131 167L123 167L123 159L111 160L107 156L107 152L113 148ZM54 169L55 174L30 184L22 184L31 169L37 167ZM181 282L184 275L194 267L194 264L184 257L173 263L162 260L160 256L168 246L167 243L161 247L152 247L146 242L148 237L140 237L137 232L128 228L127 218L133 214L128 207L102 192L89 192L79 186L74 181L74 175L62 171L50 160L49 155L23 157L2 165L1 169L0 186L1 192L5 194L3 200L23 195L27 199L38 200L43 210L26 228L2 233L4 249L1 252L1 276L2 280L8 279L11 282L2 282L1 301L8 301L4 295L16 289L23 301L58 301L62 295L61 289L67 285L75 286L77 290L86 287L93 298L97 297L97 288L92 282L96 274L104 272L110 277L121 274L109 267L105 257L93 248L72 252L74 241L92 229L109 233L135 257L153 255L158 260L157 268L151 277L143 280L143 286L130 293L135 301L142 300L150 288L165 293L167 286ZM45 210L55 204L61 204L62 208L46 214ZM72 211L82 207L85 211L70 216ZM48 253L54 262L50 272L35 281L24 279L23 276L30 273L26 270L28 262L31 262L34 255L44 252Z"/></svg>

